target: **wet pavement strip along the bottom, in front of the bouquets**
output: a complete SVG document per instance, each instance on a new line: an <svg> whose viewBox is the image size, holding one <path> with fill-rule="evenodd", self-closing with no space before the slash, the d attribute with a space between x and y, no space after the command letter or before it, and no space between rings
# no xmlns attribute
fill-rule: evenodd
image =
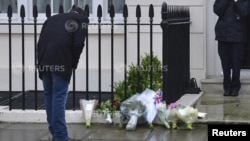
<svg viewBox="0 0 250 141"><path fill-rule="evenodd" d="M0 124L1 141L50 141L46 124ZM149 129L138 125L136 130L119 129L117 125L68 124L69 136L77 141L206 141L207 127L203 124L193 126L193 130L168 130L161 125Z"/></svg>

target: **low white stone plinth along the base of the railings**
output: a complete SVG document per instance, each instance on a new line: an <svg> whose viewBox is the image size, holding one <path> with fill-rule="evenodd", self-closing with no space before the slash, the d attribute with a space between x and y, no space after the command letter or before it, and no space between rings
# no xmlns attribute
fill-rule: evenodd
<svg viewBox="0 0 250 141"><path fill-rule="evenodd" d="M176 103L184 106L193 106L199 98L200 94L185 94ZM84 123L84 115L82 110L66 110L67 123ZM8 106L0 106L0 122L23 122L23 123L46 123L46 113L44 110L8 110ZM120 113L114 114L113 123L120 122ZM107 123L102 114L93 113L91 123ZM158 118L153 123L161 124Z"/></svg>

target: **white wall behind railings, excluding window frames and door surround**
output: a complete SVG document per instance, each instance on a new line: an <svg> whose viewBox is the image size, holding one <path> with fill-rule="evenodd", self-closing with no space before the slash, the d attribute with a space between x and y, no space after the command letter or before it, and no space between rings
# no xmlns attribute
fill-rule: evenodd
<svg viewBox="0 0 250 141"><path fill-rule="evenodd" d="M169 5L186 5L190 7L191 15L191 33L190 33L190 48L191 48L191 77L195 77L199 82L200 79L206 78L206 38L208 34L206 33L206 6L205 0L126 0L129 10L129 22L135 23L135 9L136 5L140 4L142 7L142 18L141 23L148 23L148 9L149 4L154 5L155 18L154 23L161 22L161 4L163 1L166 1ZM90 28L90 37L89 37L89 63L90 67L90 77L89 77L89 86L90 90L97 90L98 88L98 34L97 27L92 26ZM40 31L41 26L38 27ZM13 90L21 90L22 87L22 75L20 67L22 65L21 60L21 30L20 26L13 27L13 36L12 36L12 78L13 78ZM162 49L162 33L161 28L154 27L154 54L157 54L161 59L161 49ZM26 26L25 32L28 34L25 35L25 65L26 69L26 90L34 89L34 72L29 69L30 66L33 66L34 62L34 35L33 26ZM110 90L110 28L107 26L104 31L102 31L104 36L102 36L102 90ZM114 51L115 51L115 81L123 79L123 63L124 63L124 42L123 42L123 27L115 27L115 40L114 40ZM141 27L141 55L144 52L149 51L149 29ZM1 52L0 52L0 91L8 91L9 82L8 82L8 26L0 25L0 43L1 43ZM136 63L136 48L137 48L137 33L136 27L128 28L128 65L132 62ZM77 90L85 90L85 49L81 55L79 62L79 67L77 69ZM212 73L212 71L211 71ZM39 89L42 89L41 81L38 80ZM71 88L71 86L70 86Z"/></svg>

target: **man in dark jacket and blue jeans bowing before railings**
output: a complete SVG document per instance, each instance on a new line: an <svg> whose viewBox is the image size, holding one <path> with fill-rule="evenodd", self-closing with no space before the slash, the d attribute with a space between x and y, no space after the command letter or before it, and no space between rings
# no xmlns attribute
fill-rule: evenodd
<svg viewBox="0 0 250 141"><path fill-rule="evenodd" d="M39 78L43 81L49 131L56 141L68 140L65 106L72 70L84 47L88 18L81 8L45 21L38 41Z"/></svg>

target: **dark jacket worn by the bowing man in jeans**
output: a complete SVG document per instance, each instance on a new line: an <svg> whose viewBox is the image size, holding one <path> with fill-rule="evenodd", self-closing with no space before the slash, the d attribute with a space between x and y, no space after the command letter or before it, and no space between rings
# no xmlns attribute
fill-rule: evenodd
<svg viewBox="0 0 250 141"><path fill-rule="evenodd" d="M57 14L45 21L38 40L38 71L55 72L70 81L86 37L88 18L78 13Z"/></svg>

